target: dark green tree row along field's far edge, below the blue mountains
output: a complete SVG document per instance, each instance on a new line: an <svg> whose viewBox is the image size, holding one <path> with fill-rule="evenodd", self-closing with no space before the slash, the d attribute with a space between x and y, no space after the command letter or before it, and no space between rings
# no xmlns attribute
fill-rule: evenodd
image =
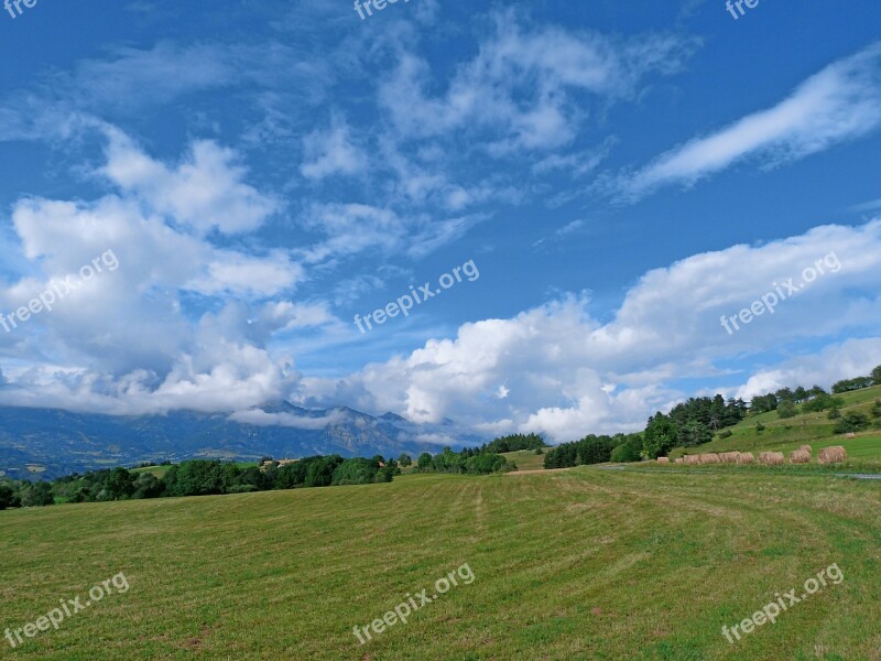
<svg viewBox="0 0 881 661"><path fill-rule="evenodd" d="M400 475L399 463L376 456L344 459L339 455L306 457L293 464L270 463L242 468L228 462L196 459L175 464L162 477L113 468L61 477L52 483L0 483L0 510L55 502L99 502L140 498L209 496L390 483Z"/></svg>

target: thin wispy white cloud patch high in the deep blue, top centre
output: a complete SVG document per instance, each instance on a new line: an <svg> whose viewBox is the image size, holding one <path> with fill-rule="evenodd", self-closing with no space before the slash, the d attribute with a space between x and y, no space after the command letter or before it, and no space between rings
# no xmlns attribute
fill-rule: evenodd
<svg viewBox="0 0 881 661"><path fill-rule="evenodd" d="M693 42L644 35L632 41L551 26L525 30L513 11L493 17L494 34L461 65L446 95L428 97L431 73L410 53L380 87L380 104L404 137L490 129L490 152L548 150L573 140L584 104L569 91L616 99L651 72L677 71Z"/></svg>

